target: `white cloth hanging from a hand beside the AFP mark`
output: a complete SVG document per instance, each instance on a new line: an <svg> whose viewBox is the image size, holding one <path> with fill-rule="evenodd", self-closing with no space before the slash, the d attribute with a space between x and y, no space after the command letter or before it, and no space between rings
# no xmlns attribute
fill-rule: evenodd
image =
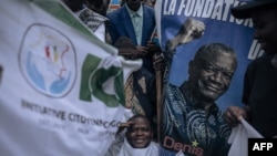
<svg viewBox="0 0 277 156"><path fill-rule="evenodd" d="M263 136L245 119L232 129L228 143L228 156L248 156L248 138L263 138Z"/></svg>

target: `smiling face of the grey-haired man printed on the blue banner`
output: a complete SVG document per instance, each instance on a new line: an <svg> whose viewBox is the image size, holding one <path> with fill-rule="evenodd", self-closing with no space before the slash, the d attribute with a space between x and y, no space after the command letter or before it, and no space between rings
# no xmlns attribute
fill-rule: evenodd
<svg viewBox="0 0 277 156"><path fill-rule="evenodd" d="M236 59L226 52L214 52L189 64L191 80L202 98L216 101L230 84L236 70Z"/></svg>

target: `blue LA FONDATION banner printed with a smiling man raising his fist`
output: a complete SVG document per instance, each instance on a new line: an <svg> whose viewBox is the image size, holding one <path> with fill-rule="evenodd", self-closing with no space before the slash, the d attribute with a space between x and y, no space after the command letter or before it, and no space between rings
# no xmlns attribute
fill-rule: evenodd
<svg viewBox="0 0 277 156"><path fill-rule="evenodd" d="M220 111L229 105L242 105L246 67L263 54L260 45L253 40L250 19L238 20L230 14L230 8L242 3L237 0L156 1L160 44L166 59L173 59L168 73L173 85L165 86L162 107L160 155L227 155L229 135ZM234 76L236 61L218 52L228 48L215 48L209 43L235 50L238 66ZM204 46L204 51L196 54L202 45ZM219 111L212 105L214 100Z"/></svg>

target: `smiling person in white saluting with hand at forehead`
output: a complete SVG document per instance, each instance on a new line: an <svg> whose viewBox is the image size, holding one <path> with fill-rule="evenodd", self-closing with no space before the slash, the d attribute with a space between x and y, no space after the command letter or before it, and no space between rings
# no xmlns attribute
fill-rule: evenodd
<svg viewBox="0 0 277 156"><path fill-rule="evenodd" d="M122 124L115 142L105 156L158 156L158 144L152 139L153 131L148 118L136 114L127 123Z"/></svg>

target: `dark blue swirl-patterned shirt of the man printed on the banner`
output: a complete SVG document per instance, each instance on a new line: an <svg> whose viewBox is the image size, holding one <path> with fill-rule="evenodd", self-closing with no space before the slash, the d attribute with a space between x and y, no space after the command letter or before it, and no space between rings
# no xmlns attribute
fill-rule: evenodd
<svg viewBox="0 0 277 156"><path fill-rule="evenodd" d="M194 98L187 84L181 87L167 84L162 115L164 155L183 150L189 156L225 156L230 128L223 121L216 104L208 113Z"/></svg>

